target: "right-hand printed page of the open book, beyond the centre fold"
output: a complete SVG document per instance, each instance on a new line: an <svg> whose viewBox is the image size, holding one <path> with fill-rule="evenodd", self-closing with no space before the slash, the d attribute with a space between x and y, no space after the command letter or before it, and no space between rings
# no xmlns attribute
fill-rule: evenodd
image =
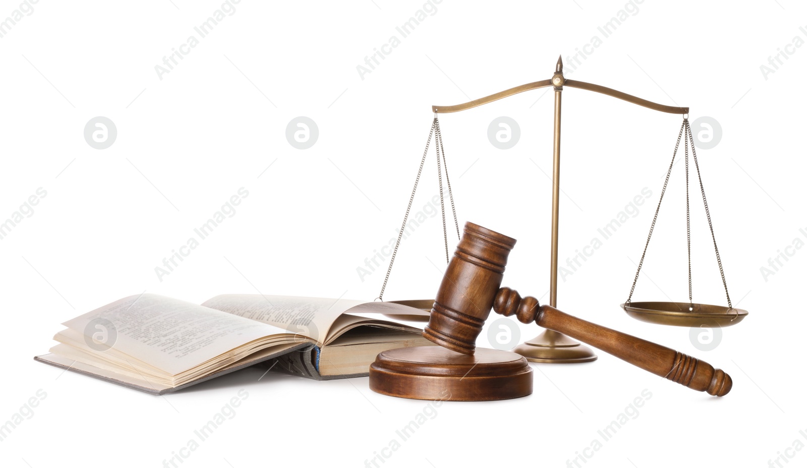
<svg viewBox="0 0 807 468"><path fill-rule="evenodd" d="M276 295L218 295L202 305L308 336L324 345L339 315L363 301Z"/></svg>

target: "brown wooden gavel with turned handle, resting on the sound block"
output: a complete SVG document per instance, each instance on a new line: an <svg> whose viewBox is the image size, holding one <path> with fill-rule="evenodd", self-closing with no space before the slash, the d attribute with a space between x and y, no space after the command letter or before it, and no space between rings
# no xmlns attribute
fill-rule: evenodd
<svg viewBox="0 0 807 468"><path fill-rule="evenodd" d="M467 355L475 351L476 337L491 307L501 315L516 315L525 324L535 322L613 354L633 366L678 382L696 391L723 396L731 390L729 374L708 362L662 345L617 332L539 305L533 297L500 289L508 254L516 240L473 223L466 223L462 239L437 291L429 324L423 336L437 345Z"/></svg>

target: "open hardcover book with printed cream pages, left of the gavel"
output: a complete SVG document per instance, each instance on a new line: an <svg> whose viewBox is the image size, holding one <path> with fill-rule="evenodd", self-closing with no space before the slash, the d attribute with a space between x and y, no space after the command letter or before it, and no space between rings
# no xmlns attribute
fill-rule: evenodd
<svg viewBox="0 0 807 468"><path fill-rule="evenodd" d="M143 294L68 320L59 344L35 359L161 395L268 360L308 378L358 377L382 351L431 344L420 328L378 314L424 312L349 299L219 295L198 305Z"/></svg>

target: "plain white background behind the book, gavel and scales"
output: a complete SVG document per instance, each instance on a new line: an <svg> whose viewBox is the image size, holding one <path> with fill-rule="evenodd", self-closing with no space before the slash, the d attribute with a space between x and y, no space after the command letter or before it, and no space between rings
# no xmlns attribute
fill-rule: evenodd
<svg viewBox="0 0 807 468"><path fill-rule="evenodd" d="M799 232L807 231L807 48L788 47L793 53L775 73L760 69L795 36L807 40L803 5L642 2L604 38L598 27L625 8L623 0L444 0L362 79L357 65L400 37L395 27L423 2L242 0L158 77L155 65L199 36L194 26L220 5L41 0L0 39L0 220L38 187L47 190L34 214L0 240L0 421L36 391L47 395L0 442L3 466L163 466L242 388L249 398L236 416L182 466L373 466L382 453L383 464L376 462L385 467L575 466L578 453L601 441L597 431L645 389L652 397L638 416L601 449L587 450L585 466L776 466L780 453L805 464L807 451L792 447L807 444L799 433L807 430L807 249L788 250L795 254L775 274L760 271L794 239L807 241ZM0 19L18 7L3 0ZM586 48L592 53L570 73L567 57L594 36L602 44ZM644 324L621 311L680 116L571 88L563 92L562 264L643 188L652 196L560 282L558 307L722 368L734 378L724 398L598 352L590 364L533 365L535 391L526 398L444 403L392 452L395 431L427 402L376 395L366 378L258 381L262 372L253 369L154 397L31 359L47 352L61 322L144 290L194 302L256 290L373 299L383 271L360 278L357 268L400 225L431 105L549 78L558 54L568 78L689 106L692 120L721 124L719 144L699 151L700 169L730 293L748 318L723 329L717 348L700 351L688 328ZM552 94L545 91L440 119L461 226L470 220L518 239L504 284L538 297L549 284ZM83 137L98 115L118 130L103 150ZM285 135L300 115L319 128L305 150ZM488 124L502 115L521 127L507 150L487 140ZM413 212L437 194L434 172L432 150ZM634 300L687 300L683 176L676 165ZM240 187L249 197L236 214L158 279L163 258ZM694 300L722 304L692 189ZM433 297L445 265L439 219L403 243L385 299ZM522 341L539 331L519 329Z"/></svg>

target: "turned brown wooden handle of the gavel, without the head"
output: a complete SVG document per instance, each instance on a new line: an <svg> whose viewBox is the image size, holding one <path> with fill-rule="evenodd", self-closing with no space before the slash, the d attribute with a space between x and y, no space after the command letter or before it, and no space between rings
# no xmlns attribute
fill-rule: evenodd
<svg viewBox="0 0 807 468"><path fill-rule="evenodd" d="M543 328L571 336L692 390L706 391L709 395L717 396L723 396L731 390L729 374L716 370L708 362L627 333L592 324L551 306L538 307L537 299L529 296L521 299L516 291L509 288L499 291L494 310L502 315L516 313L518 319L524 323L529 324L534 320Z"/></svg>

